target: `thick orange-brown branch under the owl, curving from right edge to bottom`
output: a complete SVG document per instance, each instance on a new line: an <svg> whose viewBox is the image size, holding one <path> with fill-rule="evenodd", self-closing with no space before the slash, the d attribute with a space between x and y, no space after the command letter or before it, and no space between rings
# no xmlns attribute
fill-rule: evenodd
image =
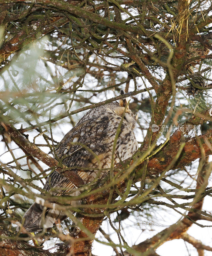
<svg viewBox="0 0 212 256"><path fill-rule="evenodd" d="M199 138L202 142L202 147L205 150L205 155L207 156L207 155L212 154L212 148L211 148L212 133L208 133L208 134L199 136ZM158 172L164 171L167 168L167 166L174 159L179 147L180 147L180 140L176 141L174 143L168 143L164 148L162 148L162 150L160 152L158 152L152 159L149 160L149 164L147 166L147 173L158 175ZM166 160L164 160L163 157L165 157ZM200 151L200 147L199 147L199 144L198 144L196 138L188 138L188 139L186 139L184 151L182 152L180 159L178 160L178 162L175 166L171 166L170 168L175 169L177 167L183 167L200 157L201 157L201 151ZM131 164L132 163L133 162L131 161ZM134 182L137 182L140 180L143 166L144 166L144 164L142 163L136 167L136 178L135 178ZM123 168L123 165L118 164L116 167L121 170ZM114 173L114 175L115 174L117 174L117 171ZM121 193L123 193L125 191L126 184L124 181L119 182L118 184L116 184L116 186ZM99 205L106 204L109 193L110 193L110 188L105 189L104 192L92 195L89 198L87 198L86 203L87 204L99 204ZM114 193L113 198L115 199L116 196L117 196L117 194ZM198 202L197 204L200 204L200 203ZM196 207L198 207L198 206L196 205ZM102 214L102 209L99 209L99 208L86 209L85 212L91 213L91 214L92 213ZM189 213L189 214L192 214L193 218L195 218L194 217L195 213ZM102 221L103 221L103 218L90 218L90 217L86 217L86 216L83 216L83 218L81 219L83 226L85 228L87 228L94 235L96 234ZM189 225L187 224L187 221L189 222ZM188 227L188 226L190 227L190 223L192 224L192 222L187 220L186 218L185 218L184 222L186 223L185 224L186 227ZM167 233L167 230L162 231L161 236L166 233ZM77 254L79 256L89 255L92 240L90 240L89 237L82 230L78 234L78 237L79 238L87 237L87 241L78 241L77 243L75 243L75 245L74 245L75 254ZM159 238L155 237L155 239L158 241ZM154 243L156 243L156 242L154 242L154 240L153 240L153 241L151 241L151 243L148 243L148 244L150 246ZM146 244L145 244L145 246L146 246Z"/></svg>

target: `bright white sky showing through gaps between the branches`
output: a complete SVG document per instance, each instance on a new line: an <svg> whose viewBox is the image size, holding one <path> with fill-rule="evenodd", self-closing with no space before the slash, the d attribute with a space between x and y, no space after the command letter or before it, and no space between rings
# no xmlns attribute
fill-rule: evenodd
<svg viewBox="0 0 212 256"><path fill-rule="evenodd" d="M35 47L35 45L33 46ZM34 52L34 56L33 58L39 58L39 56L42 56L42 51L39 51L39 50L36 50L36 48L33 50ZM24 67L23 65L26 65L26 67ZM34 60L34 64L36 64L35 60ZM20 65L20 63L19 63ZM30 66L31 65L31 66ZM19 72L22 72L21 70L24 70L24 73L25 74L28 74L30 76L30 72L32 72L33 68L35 68L35 71L36 72L45 72L45 68L42 67L42 62L39 61L39 68L36 67L36 65L33 65L33 62L29 65L29 63L27 62L22 62L22 66L20 66L20 70L18 70L18 68L16 67L16 69L19 71ZM43 71L41 71L43 68ZM37 74L36 72L34 72L33 76L36 77ZM5 78L8 79L9 81L9 76L8 74L5 74ZM20 75L20 78L21 78L21 75ZM19 84L20 81L19 81L19 76L17 76L15 78L17 80L17 83ZM27 78L29 79L29 78ZM51 80L51 77L49 76L48 77L49 80ZM96 81L93 81L94 83L96 83ZM0 84L2 84L4 86L4 82L3 80L0 78ZM10 84L8 82L8 84ZM26 84L27 84L27 81L26 81ZM24 87L26 86L26 84L20 84L20 89L24 89ZM86 84L87 86L89 86L89 84ZM138 81L138 85L140 85L141 87L139 89L143 89L144 86L142 86L142 83L141 83L141 80ZM149 86L149 84L147 83L147 85ZM45 86L45 83L43 82L43 86ZM90 84L90 86L93 88L93 84ZM87 87L82 87L82 89L88 89ZM123 89L124 89L124 85L123 85ZM133 83L130 84L130 89L131 91L133 90ZM144 95L144 94L143 94ZM114 93L113 92L106 92L106 93L102 93L101 96L99 97L99 95L97 95L96 98L92 98L92 100L95 99L96 102L99 102L99 101L102 101L102 100L105 100L105 99L109 99L111 97L114 97ZM137 95L136 97L140 97L140 95ZM55 100L55 102L59 102L59 99L58 100ZM55 103L54 102L54 103ZM68 103L68 102L67 102ZM73 105L73 108L71 108L71 110L74 110L75 108L77 108L77 106ZM63 113L64 113L65 109L63 108ZM52 110L52 116L53 115L57 115L59 113L59 110L58 108L54 108ZM83 112L84 114L85 112ZM145 122L148 123L149 121L149 116L144 116L143 113L139 113L140 114L140 118L142 119L145 119ZM75 121L78 121L80 119L80 117L82 116L82 113L79 113L74 117ZM47 118L48 119L48 118ZM47 120L45 119L45 120ZM64 120L62 120L62 122L59 122L59 124L57 124L56 127L53 127L52 129L52 132L53 132L53 138L57 141L60 141L63 136L72 128L70 124L67 124L65 121L67 121L67 123L69 122L69 119L66 118ZM146 125L146 123L144 125ZM28 125L23 125L23 127L25 126L28 126ZM16 128L20 128L20 125L17 125ZM29 140L30 141L33 141L33 137L35 136L35 132L27 132L29 134ZM142 134L139 133L139 130L137 129L137 140L138 141L142 141ZM43 143L43 139L41 136L37 137L36 140L35 140L36 143ZM17 148L17 146L12 142L11 143L11 148ZM46 148L46 147L41 147L41 149L46 152L46 153L49 153L49 149ZM2 154L1 152L4 152L5 151L5 148L4 148L4 143L3 142L0 142L0 155ZM23 155L22 154L22 151L20 150L14 150L14 155L16 157ZM10 155L10 153L5 153L3 156L0 156L0 160L4 163L7 163L9 161L12 161L12 156ZM211 157L210 157L210 160ZM20 161L21 162L21 161ZM196 164L197 165L197 164ZM42 165L43 168L47 168L46 165ZM192 166L192 168L194 168L194 166ZM184 171L180 171L178 173L178 176L175 176L179 178L179 180L183 180L184 178L182 178L185 173L183 173ZM194 170L192 172L196 172L196 169L194 168ZM17 172L18 173L18 172ZM19 173L18 173L19 174ZM28 177L28 174L27 173L24 173L24 172L21 172L20 175L23 177L23 175L25 175L25 178ZM181 177L182 175L182 177ZM189 184L192 183L192 180L189 178L186 180L187 181L187 184L189 186ZM41 187L43 187L41 185L41 182L40 181L37 181L36 184L40 185ZM164 184L162 184L164 185ZM192 186L194 186L195 184L192 184ZM210 184L208 186L212 186L212 182L210 182ZM33 190L33 189L32 189ZM35 191L35 190L34 190ZM177 202L179 202L177 199L176 199ZM32 202L32 201L31 201ZM203 205L203 210L207 209L207 210L210 210L210 206L212 205L212 199L211 197L209 196L206 196L206 198L204 199L204 205ZM185 213L182 209L177 209L179 210L180 212L182 213ZM147 224L143 224L145 223L145 219L142 217L139 217L137 219L135 219L133 216L130 216L129 219L127 220L124 220L122 221L122 234L124 235L124 238L126 239L126 241L129 243L129 245L132 245L132 244L138 244L142 241L144 241L145 239L147 238L151 238L153 235L157 234L158 232L160 232L161 230L163 230L164 228L167 228L169 227L169 225L175 223L179 218L180 218L180 215L177 214L176 212L174 212L174 210L171 210L171 209L168 209L166 207L164 207L164 210L160 210L160 209L156 209L155 212L153 212L153 215L154 215L154 218L157 219L157 223L158 223L158 226L156 225L147 225ZM112 215L112 219L113 219L113 216L116 216L116 214L113 214ZM140 227L144 230L141 230L141 228L139 229L137 227L137 221L140 223ZM206 221L198 221L199 223L203 224L203 225L210 225L212 223L209 223L209 222L206 222ZM109 233L111 234L111 239L114 243L119 243L118 242L118 238L117 238L117 235L114 233L114 230L110 227L110 225L108 224L108 221L104 221L103 224L102 224L102 228L104 229L104 231L106 233ZM154 228L154 230L151 230L151 228ZM189 229L188 233L191 235L191 236L194 236L195 238L197 239L200 239L201 242L205 245L210 245L212 246L212 229L211 228L200 228L198 226L196 226L195 224L192 225L192 227ZM98 232L97 234L97 238L99 238L100 236L100 232ZM104 241L106 241L105 239L103 239ZM46 245L46 247L48 247L50 245ZM187 251L187 248L188 248L188 251ZM50 246L51 247L51 246ZM173 240L173 241L170 241L170 242L166 242L165 244L163 244L161 247L159 247L156 251L159 255L161 256L170 256L170 254L172 256L179 256L179 255L192 255L192 256L196 256L198 255L197 251L195 248L192 247L192 245L186 243L180 239L180 240ZM103 245L103 244L99 244L98 242L94 242L94 246L93 246L93 251L92 251L93 254L95 255L101 255L101 256L112 256L113 255L113 249L110 247L110 246L106 246L106 245ZM191 254L189 254L191 253ZM205 251L205 256L212 256L212 252L207 252Z"/></svg>

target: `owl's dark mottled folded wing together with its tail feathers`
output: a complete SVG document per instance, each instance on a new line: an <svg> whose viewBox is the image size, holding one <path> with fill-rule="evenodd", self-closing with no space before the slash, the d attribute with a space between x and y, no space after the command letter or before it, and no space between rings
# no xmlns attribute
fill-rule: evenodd
<svg viewBox="0 0 212 256"><path fill-rule="evenodd" d="M95 156L99 157L99 160L104 158L106 153L106 144L108 142L104 140L108 136L108 118L101 118L101 120L86 120L77 124L71 131L69 131L64 138L59 143L56 148L56 157L60 158L62 163L67 167L72 167L73 171L77 172L78 175L84 180L85 184L88 182L89 173L93 172L80 169L80 167L85 168L95 168L98 167L97 159ZM105 142L104 142L105 141ZM76 145L75 142L79 142L80 145ZM74 144L75 143L75 144ZM83 147L82 145L85 145ZM89 150L87 150L89 148ZM64 175L59 172L52 172L48 176L46 183L43 187L46 191L51 191L54 196L59 196L61 194L71 194L72 196L79 194L79 192L71 192L75 188L75 185L67 179ZM54 220L49 213L50 209L46 211L45 224L47 227L52 227ZM42 219L43 206L34 203L27 210L24 215L25 223L24 227L30 231L41 231L41 219ZM55 215L56 213L54 213ZM63 219L64 214L61 212L57 213L57 218Z"/></svg>

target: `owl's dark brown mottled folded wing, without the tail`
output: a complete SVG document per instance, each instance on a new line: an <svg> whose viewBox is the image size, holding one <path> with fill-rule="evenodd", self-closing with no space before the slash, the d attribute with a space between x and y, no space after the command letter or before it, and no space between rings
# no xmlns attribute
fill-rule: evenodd
<svg viewBox="0 0 212 256"><path fill-rule="evenodd" d="M59 143L56 155L67 167L72 167L72 171L84 180L85 184L89 176L88 168L98 168L98 160L101 161L106 153L106 141L108 137L108 118L101 120L86 120L76 125L69 131ZM78 142L79 144L74 144ZM87 150L89 148L89 150ZM80 167L88 170L80 170ZM56 188L56 189L54 189ZM54 171L49 175L44 185L44 190L52 190L52 195L59 195L59 192L69 193L75 185L62 174Z"/></svg>

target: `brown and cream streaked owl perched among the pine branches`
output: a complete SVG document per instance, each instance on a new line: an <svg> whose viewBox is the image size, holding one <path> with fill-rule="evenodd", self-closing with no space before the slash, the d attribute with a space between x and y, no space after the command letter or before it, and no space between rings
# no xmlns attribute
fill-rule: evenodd
<svg viewBox="0 0 212 256"><path fill-rule="evenodd" d="M114 151L114 164L131 157L138 149L134 133L137 116L126 107L126 104L126 99L123 99L120 103L114 101L90 109L58 144L55 157L60 158L67 167L72 167L84 184L94 179L101 179L102 175L111 168L114 139L120 125L121 131ZM43 189L53 196L80 194L70 180L56 171L48 176ZM75 206L80 202L72 200L68 203ZM64 212L53 209L46 209L44 212L43 206L35 202L23 218L25 220L23 226L27 231L40 232L43 228L53 227L56 220L64 220L67 216Z"/></svg>

